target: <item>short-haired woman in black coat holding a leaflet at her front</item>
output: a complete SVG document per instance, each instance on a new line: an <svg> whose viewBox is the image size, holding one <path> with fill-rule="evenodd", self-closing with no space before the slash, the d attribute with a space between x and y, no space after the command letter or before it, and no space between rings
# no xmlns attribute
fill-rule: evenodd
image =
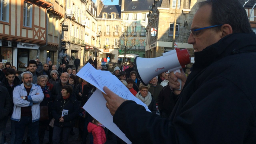
<svg viewBox="0 0 256 144"><path fill-rule="evenodd" d="M68 143L68 137L74 120L78 117L78 101L71 96L72 86L63 85L61 96L57 96L52 106L52 115L54 120L53 144L59 144L60 134L62 132L62 143Z"/></svg>

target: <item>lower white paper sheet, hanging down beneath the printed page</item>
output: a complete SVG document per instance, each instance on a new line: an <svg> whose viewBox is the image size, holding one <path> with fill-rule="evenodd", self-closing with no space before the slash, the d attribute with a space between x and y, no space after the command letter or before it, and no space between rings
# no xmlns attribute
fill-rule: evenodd
<svg viewBox="0 0 256 144"><path fill-rule="evenodd" d="M97 106L95 104L96 101ZM83 108L90 113L93 118L97 119L100 123L106 126L107 129L125 141L125 143L131 144L131 141L129 141L125 134L115 125L115 123L113 123L113 116L110 114L109 109L107 109L106 102L107 101L104 99L102 92L100 90L96 90L85 103Z"/></svg>

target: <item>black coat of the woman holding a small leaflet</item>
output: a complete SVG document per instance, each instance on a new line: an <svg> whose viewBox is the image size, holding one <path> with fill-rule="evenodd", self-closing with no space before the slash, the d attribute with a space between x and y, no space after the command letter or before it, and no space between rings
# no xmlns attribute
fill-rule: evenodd
<svg viewBox="0 0 256 144"><path fill-rule="evenodd" d="M65 104L64 104L65 102ZM64 106L64 107L63 107ZM59 122L59 119L62 115L62 110L68 110L68 115L63 116L64 122ZM59 95L52 105L51 113L53 115L54 125L56 126L65 126L71 127L74 125L75 119L79 115L79 105L75 97L69 97L67 100L64 100L61 95Z"/></svg>

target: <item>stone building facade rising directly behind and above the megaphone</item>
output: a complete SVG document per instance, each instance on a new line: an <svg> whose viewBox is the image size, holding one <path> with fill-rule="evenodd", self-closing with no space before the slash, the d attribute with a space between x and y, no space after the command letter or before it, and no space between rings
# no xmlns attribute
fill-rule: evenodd
<svg viewBox="0 0 256 144"><path fill-rule="evenodd" d="M193 16L198 9L197 3L203 0L178 0L176 13L176 34L175 46L187 48L191 56L194 56L193 46L187 43L190 35L190 26ZM148 16L149 24L147 25L147 46L146 57L159 57L163 53L172 50L175 8L176 0L159 0L154 1L153 9ZM155 36L151 36L151 28L157 30Z"/></svg>

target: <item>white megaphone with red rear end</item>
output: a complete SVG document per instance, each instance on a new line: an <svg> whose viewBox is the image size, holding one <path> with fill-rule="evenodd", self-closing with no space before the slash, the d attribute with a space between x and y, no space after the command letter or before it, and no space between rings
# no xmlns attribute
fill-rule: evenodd
<svg viewBox="0 0 256 144"><path fill-rule="evenodd" d="M163 56L155 58L135 57L135 69L144 85L148 85L152 78L162 72L181 72L180 69L190 63L190 53L187 49L180 50L175 48L169 52L163 53ZM181 79L179 90L181 90Z"/></svg>

